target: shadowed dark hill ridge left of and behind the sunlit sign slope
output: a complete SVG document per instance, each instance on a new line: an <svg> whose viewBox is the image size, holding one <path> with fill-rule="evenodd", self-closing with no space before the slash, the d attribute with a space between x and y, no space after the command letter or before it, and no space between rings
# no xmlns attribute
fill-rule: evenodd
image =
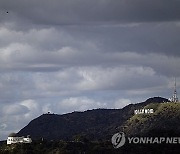
<svg viewBox="0 0 180 154"><path fill-rule="evenodd" d="M132 129L135 109L167 101L164 98L154 97L142 103L130 104L122 109L96 109L64 115L43 114L32 120L18 134L31 135L33 139L47 140L74 140L79 137L88 140L109 140L114 133L122 130L124 124L131 128L127 132L136 132ZM141 128L139 125L137 125L138 129Z"/></svg>

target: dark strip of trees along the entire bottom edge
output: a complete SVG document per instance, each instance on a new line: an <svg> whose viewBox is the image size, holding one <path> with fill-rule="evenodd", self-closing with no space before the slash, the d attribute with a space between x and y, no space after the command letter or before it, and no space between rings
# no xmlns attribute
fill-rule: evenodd
<svg viewBox="0 0 180 154"><path fill-rule="evenodd" d="M32 144L0 145L0 154L177 154L179 145L128 144L114 149L110 141L34 141Z"/></svg>

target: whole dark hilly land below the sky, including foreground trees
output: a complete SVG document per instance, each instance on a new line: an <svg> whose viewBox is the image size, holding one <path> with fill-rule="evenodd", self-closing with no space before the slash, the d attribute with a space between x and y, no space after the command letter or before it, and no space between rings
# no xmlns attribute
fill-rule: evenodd
<svg viewBox="0 0 180 154"><path fill-rule="evenodd" d="M152 114L135 115L135 109L154 109ZM177 154L179 144L129 144L115 149L111 137L118 131L127 136L168 136L180 134L180 103L160 97L130 104L123 109L96 109L64 115L44 114L32 120L18 134L30 134L32 144L0 143L0 153L23 154ZM42 138L44 138L42 140Z"/></svg>

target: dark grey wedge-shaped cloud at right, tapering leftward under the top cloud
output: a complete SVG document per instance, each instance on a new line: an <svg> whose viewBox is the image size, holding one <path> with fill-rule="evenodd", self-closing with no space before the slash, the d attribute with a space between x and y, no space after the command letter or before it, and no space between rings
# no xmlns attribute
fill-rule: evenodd
<svg viewBox="0 0 180 154"><path fill-rule="evenodd" d="M102 51L160 53L180 55L180 24L176 22L141 23L116 27L69 28L73 35L98 42Z"/></svg>

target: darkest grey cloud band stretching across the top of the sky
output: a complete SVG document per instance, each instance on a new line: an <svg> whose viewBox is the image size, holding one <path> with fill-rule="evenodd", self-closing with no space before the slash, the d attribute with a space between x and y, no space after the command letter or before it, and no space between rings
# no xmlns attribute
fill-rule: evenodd
<svg viewBox="0 0 180 154"><path fill-rule="evenodd" d="M1 16L9 11L34 23L86 24L177 21L179 0L6 0Z"/></svg>

